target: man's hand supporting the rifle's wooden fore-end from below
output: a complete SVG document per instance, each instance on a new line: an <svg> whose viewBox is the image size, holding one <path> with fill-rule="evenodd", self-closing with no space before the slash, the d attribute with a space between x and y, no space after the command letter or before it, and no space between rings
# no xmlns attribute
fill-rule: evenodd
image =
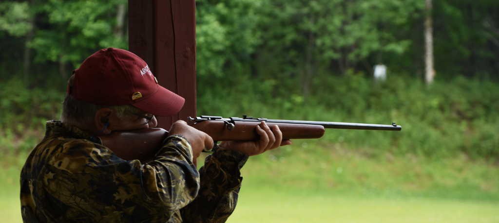
<svg viewBox="0 0 499 223"><path fill-rule="evenodd" d="M289 139L282 140L282 132L277 125L272 125L270 128L262 121L256 126L256 133L260 136L260 139L256 141L224 141L220 147L254 156L279 146L291 144Z"/></svg>

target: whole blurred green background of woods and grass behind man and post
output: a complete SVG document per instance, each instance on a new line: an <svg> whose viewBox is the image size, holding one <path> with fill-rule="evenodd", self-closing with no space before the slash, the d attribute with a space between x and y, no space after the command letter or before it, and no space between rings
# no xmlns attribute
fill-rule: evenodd
<svg viewBox="0 0 499 223"><path fill-rule="evenodd" d="M198 114L403 126L328 130L251 158L234 222L499 221L499 1L196 4ZM126 0L0 2L7 222L20 221L20 168L45 121L58 119L71 71L100 48L126 49L127 22ZM378 64L386 81L372 77Z"/></svg>

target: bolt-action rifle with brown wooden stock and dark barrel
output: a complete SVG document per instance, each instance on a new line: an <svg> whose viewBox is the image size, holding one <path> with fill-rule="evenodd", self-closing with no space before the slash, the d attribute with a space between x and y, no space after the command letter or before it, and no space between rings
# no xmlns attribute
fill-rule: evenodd
<svg viewBox="0 0 499 223"><path fill-rule="evenodd" d="M194 128L206 132L214 141L255 140L258 134L256 125L265 121L269 125L278 125L283 139L320 138L325 128L364 129L400 131L402 126L392 122L388 124L365 124L351 122L301 121L243 117L224 118L222 116L201 115L189 117L188 123ZM168 131L163 128L148 128L136 131L113 132L101 136L102 144L125 160L151 160L161 148Z"/></svg>

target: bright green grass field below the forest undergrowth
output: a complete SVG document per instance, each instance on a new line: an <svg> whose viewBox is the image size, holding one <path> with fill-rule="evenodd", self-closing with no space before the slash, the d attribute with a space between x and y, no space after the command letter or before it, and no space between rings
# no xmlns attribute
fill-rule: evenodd
<svg viewBox="0 0 499 223"><path fill-rule="evenodd" d="M2 157L5 223L21 222L18 177L24 157ZM499 223L499 168L466 156L370 158L303 141L251 157L242 172L230 223Z"/></svg>

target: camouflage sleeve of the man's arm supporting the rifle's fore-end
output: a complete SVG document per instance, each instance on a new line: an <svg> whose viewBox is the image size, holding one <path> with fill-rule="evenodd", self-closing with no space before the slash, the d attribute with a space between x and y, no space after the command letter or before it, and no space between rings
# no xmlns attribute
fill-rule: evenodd
<svg viewBox="0 0 499 223"><path fill-rule="evenodd" d="M198 197L181 209L184 222L224 223L234 212L241 188L241 168L248 155L220 148L208 156L200 169Z"/></svg>

